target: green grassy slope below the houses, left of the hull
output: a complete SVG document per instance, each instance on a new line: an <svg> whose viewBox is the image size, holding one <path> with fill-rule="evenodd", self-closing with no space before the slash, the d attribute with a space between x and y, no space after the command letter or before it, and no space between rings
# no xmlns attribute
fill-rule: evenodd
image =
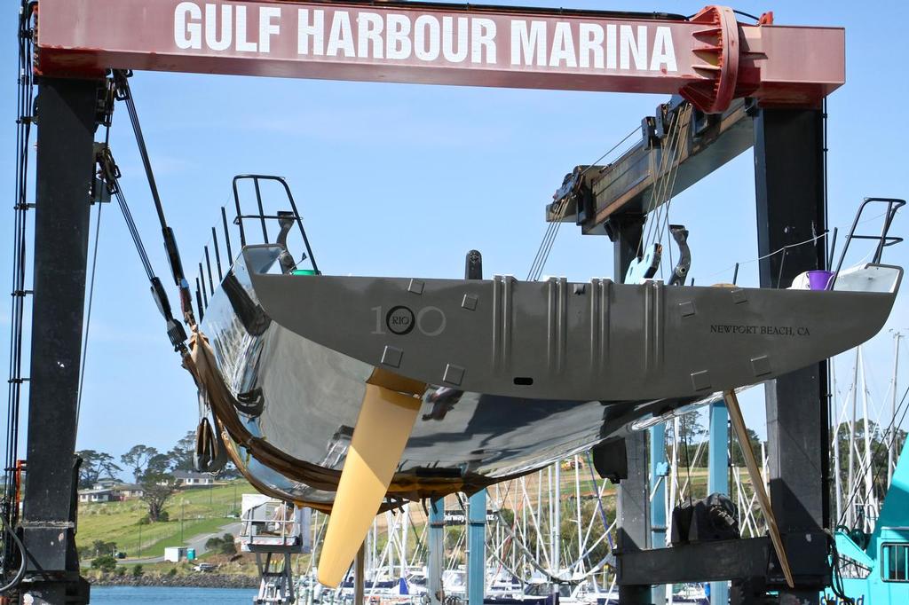
<svg viewBox="0 0 909 605"><path fill-rule="evenodd" d="M255 490L243 480L177 491L165 506L170 521L147 525L139 524L148 511L143 501L82 503L76 544L84 548L99 540L116 542L117 550L123 550L129 558L157 557L164 554L165 547L183 543L181 519L184 541L237 521L245 492Z"/></svg>

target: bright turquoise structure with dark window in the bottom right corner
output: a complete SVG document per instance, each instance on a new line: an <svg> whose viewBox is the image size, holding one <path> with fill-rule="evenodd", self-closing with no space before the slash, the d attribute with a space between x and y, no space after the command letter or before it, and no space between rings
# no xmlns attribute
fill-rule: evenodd
<svg viewBox="0 0 909 605"><path fill-rule="evenodd" d="M874 532L837 530L837 568L854 605L909 603L909 455L901 455ZM844 600L827 589L825 602Z"/></svg>

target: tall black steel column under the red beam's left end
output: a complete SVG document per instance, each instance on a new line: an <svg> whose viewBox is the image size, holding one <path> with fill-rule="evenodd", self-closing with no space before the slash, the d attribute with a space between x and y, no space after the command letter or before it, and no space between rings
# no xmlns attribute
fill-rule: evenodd
<svg viewBox="0 0 909 605"><path fill-rule="evenodd" d="M35 299L23 531L24 602L87 602L75 551L75 428L95 81L43 79L37 97ZM81 593L83 599L79 598Z"/></svg>

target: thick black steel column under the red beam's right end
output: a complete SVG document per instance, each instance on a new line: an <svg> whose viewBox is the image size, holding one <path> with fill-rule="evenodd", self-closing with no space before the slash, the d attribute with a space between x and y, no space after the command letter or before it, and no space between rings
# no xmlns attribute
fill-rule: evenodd
<svg viewBox="0 0 909 605"><path fill-rule="evenodd" d="M754 120L754 177L761 256L824 233L822 113L761 110ZM798 273L823 269L824 257L822 239L765 258L761 286L788 287ZM826 390L825 362L766 385L770 496L796 584L781 592L782 603L818 603L829 578Z"/></svg>

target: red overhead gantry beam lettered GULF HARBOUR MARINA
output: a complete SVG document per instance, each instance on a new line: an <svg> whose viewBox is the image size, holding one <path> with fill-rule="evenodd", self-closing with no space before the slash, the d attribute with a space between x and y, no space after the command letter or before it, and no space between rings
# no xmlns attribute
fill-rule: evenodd
<svg viewBox="0 0 909 605"><path fill-rule="evenodd" d="M654 15L655 16L655 15ZM810 106L844 84L844 30L472 5L39 0L40 74L108 68L738 96Z"/></svg>

